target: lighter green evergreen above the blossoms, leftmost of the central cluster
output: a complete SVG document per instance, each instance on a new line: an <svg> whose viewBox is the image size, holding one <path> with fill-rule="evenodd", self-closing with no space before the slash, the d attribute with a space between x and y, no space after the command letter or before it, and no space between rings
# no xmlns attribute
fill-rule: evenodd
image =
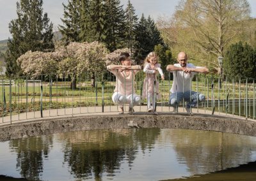
<svg viewBox="0 0 256 181"><path fill-rule="evenodd" d="M70 41L79 42L81 41L82 2L80 0L68 0L67 6L64 3L62 4L64 7L64 14L61 21L64 25L59 25L59 30L63 36L62 40L65 42L65 45L68 45Z"/></svg>

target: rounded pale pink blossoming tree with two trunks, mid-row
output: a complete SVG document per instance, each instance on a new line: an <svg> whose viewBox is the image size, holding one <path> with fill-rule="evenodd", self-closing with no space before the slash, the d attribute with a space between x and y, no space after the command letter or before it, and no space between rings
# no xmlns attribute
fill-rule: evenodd
<svg viewBox="0 0 256 181"><path fill-rule="evenodd" d="M106 67L108 49L97 41L92 43L72 42L66 47L59 48L56 52L63 59L59 64L59 72L75 75L72 76L74 82L76 82L76 75L85 72L91 73L94 87L95 73L102 72L102 69ZM72 83L72 85L76 85L76 83Z"/></svg>

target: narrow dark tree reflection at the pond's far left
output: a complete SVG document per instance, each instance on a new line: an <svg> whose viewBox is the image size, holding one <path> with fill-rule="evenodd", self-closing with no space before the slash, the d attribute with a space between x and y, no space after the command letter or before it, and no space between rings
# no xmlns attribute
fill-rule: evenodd
<svg viewBox="0 0 256 181"><path fill-rule="evenodd" d="M37 136L10 141L10 148L17 152L17 169L22 177L40 180L43 171L43 156L48 157L51 136Z"/></svg>

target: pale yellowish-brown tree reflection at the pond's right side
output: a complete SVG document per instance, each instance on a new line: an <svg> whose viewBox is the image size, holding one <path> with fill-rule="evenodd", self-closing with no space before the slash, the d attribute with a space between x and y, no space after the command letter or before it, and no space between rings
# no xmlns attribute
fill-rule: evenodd
<svg viewBox="0 0 256 181"><path fill-rule="evenodd" d="M249 136L237 134L174 129L169 136L178 161L186 162L193 174L248 163L256 148Z"/></svg>

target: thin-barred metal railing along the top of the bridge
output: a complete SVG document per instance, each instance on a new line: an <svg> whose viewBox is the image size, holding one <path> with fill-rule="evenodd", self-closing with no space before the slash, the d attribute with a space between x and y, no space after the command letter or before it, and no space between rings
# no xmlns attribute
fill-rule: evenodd
<svg viewBox="0 0 256 181"><path fill-rule="evenodd" d="M164 72L165 79L159 75L157 112L172 112L169 105L173 73ZM145 73L135 75L136 94L142 95ZM112 94L115 89L115 76L109 71L101 73L59 74L40 76L17 76L0 81L1 123L16 120L36 119L83 113L117 112ZM191 90L202 92L205 101L196 105L193 112L208 114L230 114L245 119L255 119L255 79L234 78L230 76L196 74L191 78ZM145 112L147 100L141 99L137 112ZM186 103L181 101L179 108Z"/></svg>

